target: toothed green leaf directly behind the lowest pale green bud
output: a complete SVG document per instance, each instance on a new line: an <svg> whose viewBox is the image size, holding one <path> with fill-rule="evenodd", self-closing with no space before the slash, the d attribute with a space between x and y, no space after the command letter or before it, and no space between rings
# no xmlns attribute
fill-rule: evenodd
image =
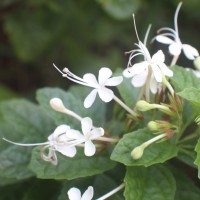
<svg viewBox="0 0 200 200"><path fill-rule="evenodd" d="M139 129L125 134L112 152L111 159L127 166L143 165L148 167L156 163L163 163L177 155L178 149L175 144L166 140L151 144L144 150L144 154L140 159L134 160L131 157L131 151L153 137L155 136L148 129Z"/></svg>

